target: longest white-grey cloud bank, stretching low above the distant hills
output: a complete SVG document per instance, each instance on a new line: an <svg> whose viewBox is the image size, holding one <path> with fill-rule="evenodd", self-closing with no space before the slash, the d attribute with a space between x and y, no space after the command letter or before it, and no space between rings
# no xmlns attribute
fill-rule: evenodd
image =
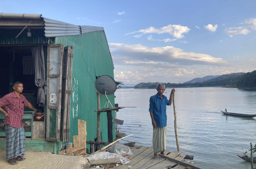
<svg viewBox="0 0 256 169"><path fill-rule="evenodd" d="M152 37L148 37L149 39ZM221 64L225 63L222 58L215 58L208 54L185 52L182 49L165 46L165 47L148 47L141 44L127 45L127 44L109 44L112 56L119 56L117 59L125 63L125 61L142 60L143 62L151 63L179 63L182 65L189 64ZM125 57L122 58L121 57ZM121 60L120 60L121 59Z"/></svg>

